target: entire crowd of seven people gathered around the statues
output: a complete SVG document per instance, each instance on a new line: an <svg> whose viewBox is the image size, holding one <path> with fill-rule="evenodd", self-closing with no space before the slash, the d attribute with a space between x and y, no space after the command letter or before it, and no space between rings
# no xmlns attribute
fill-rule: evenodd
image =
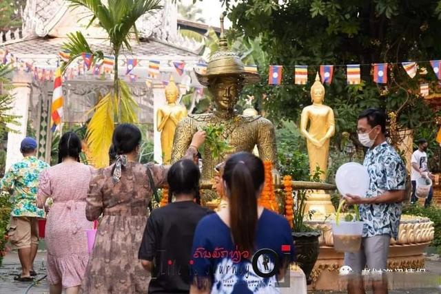
<svg viewBox="0 0 441 294"><path fill-rule="evenodd" d="M365 196L345 195L359 204L365 223L358 253L345 253L354 273L387 269L391 238L397 238L407 172L399 154L387 143L386 115L367 109L358 117L358 140L367 148L369 174ZM15 280L29 282L38 248L37 218L45 218L45 242L50 293L278 293L276 282L294 262L289 224L258 206L265 181L260 158L247 152L216 166L216 191L225 195L216 213L202 207L200 169L195 165L205 132L196 132L184 158L174 165L142 165L138 127L116 127L110 166L93 169L80 163L81 141L63 134L59 164L49 167L35 157L37 143L25 138L23 160L0 181L10 191L10 242L19 249L22 272ZM418 140L412 156L411 201L416 178L433 178L427 169L427 140ZM169 204L150 209L158 187L168 186ZM48 207L47 200L53 204ZM172 201L174 200L174 201ZM430 204L427 198L426 205ZM46 213L45 213L46 211ZM99 221L92 253L85 231ZM254 270L254 254L271 249L257 264L276 268L265 276ZM286 252L288 251L289 258ZM358 275L360 277L360 275ZM387 293L384 275L374 293ZM351 279L349 293L364 293L360 278Z"/></svg>

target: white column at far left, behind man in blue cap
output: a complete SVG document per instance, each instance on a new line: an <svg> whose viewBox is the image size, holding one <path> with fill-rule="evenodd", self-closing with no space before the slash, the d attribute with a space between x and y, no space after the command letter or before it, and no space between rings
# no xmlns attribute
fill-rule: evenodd
<svg viewBox="0 0 441 294"><path fill-rule="evenodd" d="M21 72L14 72L14 78L12 78L14 89L11 90L11 94L14 96L14 103L11 114L20 116L17 119L19 126L8 125L10 129L17 131L16 133L8 133L8 152L6 154L6 171L15 162L21 160L20 143L26 136L26 129L28 126L28 113L30 102L30 76Z"/></svg>

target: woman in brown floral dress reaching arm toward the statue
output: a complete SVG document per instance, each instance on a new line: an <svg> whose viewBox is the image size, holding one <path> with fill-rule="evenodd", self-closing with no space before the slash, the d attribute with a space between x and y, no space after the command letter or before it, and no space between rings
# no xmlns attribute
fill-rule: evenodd
<svg viewBox="0 0 441 294"><path fill-rule="evenodd" d="M196 132L186 156L193 159L204 140L205 132ZM101 214L103 218L81 292L145 293L149 276L138 251L154 187L167 181L169 167L138 162L141 131L134 125L116 127L112 143L117 154L114 164L96 171L90 182L85 215L88 220Z"/></svg>

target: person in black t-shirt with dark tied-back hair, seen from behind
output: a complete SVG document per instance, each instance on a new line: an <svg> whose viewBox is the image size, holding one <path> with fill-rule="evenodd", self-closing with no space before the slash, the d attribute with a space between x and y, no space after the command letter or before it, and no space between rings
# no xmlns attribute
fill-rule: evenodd
<svg viewBox="0 0 441 294"><path fill-rule="evenodd" d="M189 291L194 230L201 218L212 213L198 204L199 178L201 174L193 160L179 160L170 167L167 182L175 200L152 211L139 249L141 264L156 277L150 281L148 293ZM178 270L180 275L174 273Z"/></svg>

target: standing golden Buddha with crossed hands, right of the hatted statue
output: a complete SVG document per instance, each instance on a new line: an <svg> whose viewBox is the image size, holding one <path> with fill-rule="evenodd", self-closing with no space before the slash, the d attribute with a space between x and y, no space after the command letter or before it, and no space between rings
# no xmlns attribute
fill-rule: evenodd
<svg viewBox="0 0 441 294"><path fill-rule="evenodd" d="M309 173L314 175L316 168L319 167L323 172L320 174L320 180L325 180L329 158L329 141L336 132L336 123L332 108L323 104L325 87L320 83L318 73L316 81L311 87L311 101L312 105L302 110L300 131L307 140ZM309 129L307 129L308 124ZM325 214L335 212L331 196L324 191L316 191L309 195L306 209Z"/></svg>

